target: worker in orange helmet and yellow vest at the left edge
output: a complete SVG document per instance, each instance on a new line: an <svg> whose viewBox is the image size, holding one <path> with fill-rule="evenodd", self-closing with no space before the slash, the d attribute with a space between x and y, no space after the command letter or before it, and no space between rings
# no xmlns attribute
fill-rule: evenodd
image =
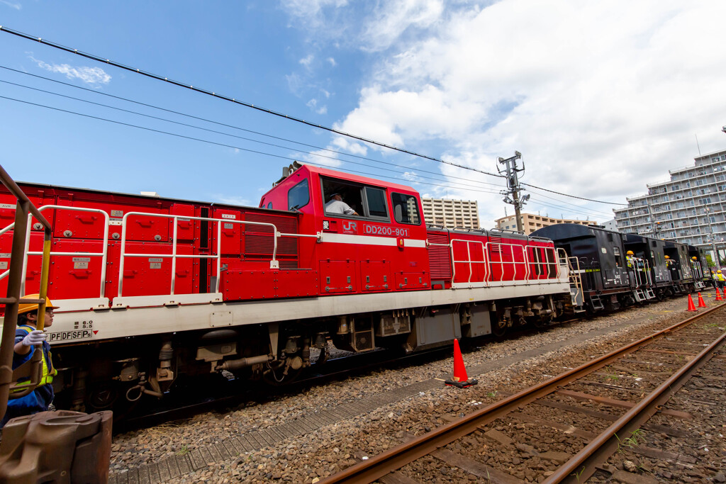
<svg viewBox="0 0 726 484"><path fill-rule="evenodd" d="M29 294L23 296L28 299L39 299L38 294ZM44 318L44 327L50 327L53 324L53 310L58 306L54 306L51 300L46 299L46 313ZM9 419L22 417L23 415L37 414L39 411L46 411L53 402L53 377L58 373L53 367L53 361L50 354L50 345L46 341L45 332L37 329L38 323L38 305L37 304L20 304L17 308L17 329L15 329L15 347L13 348L12 369L16 369L25 361L33 357L33 350L40 346L43 350L43 373L38 386L28 395L24 397L9 400L7 403L7 412L2 421L0 428L4 427Z"/></svg>

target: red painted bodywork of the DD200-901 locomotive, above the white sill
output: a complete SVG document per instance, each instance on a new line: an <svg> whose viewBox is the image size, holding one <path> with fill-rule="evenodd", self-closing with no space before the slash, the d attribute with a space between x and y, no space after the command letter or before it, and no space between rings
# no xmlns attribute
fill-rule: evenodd
<svg viewBox="0 0 726 484"><path fill-rule="evenodd" d="M288 193L303 181L308 184L309 200L290 211ZM362 191L370 189L371 196L383 190L386 210L379 205L379 215L367 218L325 213L325 184L343 182ZM452 287L452 282L493 283L527 279L536 283L539 279L557 276L552 242L499 232L488 235L484 231L427 229L423 223L420 197L412 188L309 165L303 165L275 184L262 197L261 208L36 184L20 184L20 187L38 207L94 208L108 214L110 226L104 288L105 297L112 300L118 295L120 277L120 223L129 212L142 214L127 218L126 253L149 255L125 258L121 274L123 296L166 295L171 292L171 258L155 258L153 255L172 253L174 221L145 216L145 213L179 217L176 221L176 253L180 255L216 255L219 237L222 269L219 292L224 300L446 290ZM396 208L392 194L414 197L415 210L420 214L417 223L396 221L399 213L393 215ZM406 200L413 203L410 198ZM44 210L43 213L53 224L52 252L102 252L105 229L102 214L63 209ZM198 221L190 219L192 217L215 218L219 222ZM0 226L9 225L14 218L15 199L7 192L0 192ZM280 237L277 247L280 268L270 268L272 228L240 225L237 221L272 223L282 234L322 234L322 241L316 237ZM218 223L221 224L219 230ZM0 271L9 264L11 239L12 231L0 236ZM41 251L42 239L42 232L33 228L29 250ZM452 247L444 247L449 244ZM38 292L40 259L39 255L28 257L26 293ZM526 263L526 260L529 262ZM101 261L98 256L74 258L73 255L53 255L49 297L101 296ZM177 258L174 293L212 292L214 278L218 276L216 272L216 261ZM6 291L7 279L1 279L0 292L4 294Z"/></svg>

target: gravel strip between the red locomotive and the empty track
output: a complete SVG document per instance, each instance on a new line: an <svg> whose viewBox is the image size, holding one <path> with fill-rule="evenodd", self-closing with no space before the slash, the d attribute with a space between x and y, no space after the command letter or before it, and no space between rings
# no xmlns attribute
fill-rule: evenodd
<svg viewBox="0 0 726 484"><path fill-rule="evenodd" d="M453 367L447 358L115 435L111 482L144 475L150 482L314 483L497 401L500 392L547 380L680 321L688 314L685 308L686 299L678 298L515 339L484 339L464 354L469 376L479 380L465 390L443 385Z"/></svg>

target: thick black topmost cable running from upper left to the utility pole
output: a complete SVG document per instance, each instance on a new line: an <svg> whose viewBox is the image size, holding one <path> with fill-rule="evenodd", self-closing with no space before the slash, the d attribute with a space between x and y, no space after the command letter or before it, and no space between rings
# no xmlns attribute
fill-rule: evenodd
<svg viewBox="0 0 726 484"><path fill-rule="evenodd" d="M322 129L322 130L325 130L325 131L330 131L331 133L339 134L340 136L346 136L346 137L351 138L351 139L357 139L359 141L364 141L366 143L375 144L375 145L380 146L380 147L384 147L384 148L388 148L388 149L393 149L393 150L398 151L398 152L401 152L401 153L406 153L407 155L412 155L412 156L416 156L416 157L420 157L420 158L425 158L426 160L432 160L432 161L436 161L438 163L444 163L445 165L455 166L457 168L462 168L464 170L476 171L478 173L484 173L485 175L489 175L489 176L497 176L497 177L499 176L499 175L497 175L495 173L489 173L487 171L478 170L476 168L471 168L469 166L459 165L457 163L452 163L450 161L441 160L439 158L431 157L431 156L428 156L428 155L420 155L419 153L409 151L408 149L394 147L394 146L391 146L390 144L385 144L385 143L381 143L379 141L374 141L372 139L364 138L362 136L357 136L355 134L346 133L345 131L340 131L340 130L335 129L335 128L330 128L328 126L322 126L320 124L311 123L310 121L306 121L306 120L303 120L301 118L296 118L295 116L286 115L283 112L277 112L277 111L273 111L273 110L267 109L266 107L256 106L255 104L252 104L250 102L240 101L239 99L236 99L234 97L225 96L224 94L217 94L216 92L214 92L214 91L208 91L207 89L200 89L198 87L192 86L191 84L186 84L186 83L182 83L182 82L179 82L179 81L174 81L173 79L169 79L169 78L163 77L163 76L158 75L158 74L153 74L153 73L147 72L145 70L138 69L136 67L130 67L128 65L121 64L120 62L115 62L113 60L105 59L104 57L99 57L99 56L94 55L94 54L89 54L87 52L82 52L82 51L79 51L78 49L72 49L70 47L64 46L62 44L57 44L57 43L52 42L52 41L46 41L44 38L41 38L41 37L33 37L33 36L28 35L27 33L23 33L23 32L20 32L18 30L12 30L12 29L7 28L7 27L4 27L2 25L0 25L0 31L7 32L7 33L12 33L12 35L14 35L14 36L18 36L20 38L25 38L25 39L27 39L29 41L36 41L36 42L39 42L40 44L44 44L46 46L51 46L54 49L60 49L60 50L62 50L64 52L69 52L70 54L77 54L77 55L80 55L81 57L86 57L86 59L95 60L97 62L103 62L104 64L108 64L108 65L113 65L114 67L118 67L118 68L123 69L123 70L128 70L128 71L130 71L132 73L141 74L141 75L144 75L144 76L146 76L148 78L155 79L157 81L164 81L166 83L173 84L174 86L179 86L179 87L183 87L185 89L190 89L192 91L199 92L201 94L207 94L208 96L216 97L218 99L223 99L224 101L229 101L229 102L232 102L234 104L240 104L241 106L249 107L251 109L258 110L258 111L261 111L261 112L266 112L267 114L275 115L275 116L278 116L280 118L289 119L289 120L295 121L296 123L302 123L302 124L305 124L307 126L312 126L313 128L318 128L318 129Z"/></svg>

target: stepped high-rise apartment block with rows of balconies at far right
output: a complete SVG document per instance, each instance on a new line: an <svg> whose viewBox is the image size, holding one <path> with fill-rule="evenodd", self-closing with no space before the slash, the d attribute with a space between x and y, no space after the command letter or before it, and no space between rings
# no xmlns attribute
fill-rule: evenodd
<svg viewBox="0 0 726 484"><path fill-rule="evenodd" d="M621 232L722 250L726 238L726 150L700 155L669 170L669 181L648 184L648 194L627 198L613 210Z"/></svg>

